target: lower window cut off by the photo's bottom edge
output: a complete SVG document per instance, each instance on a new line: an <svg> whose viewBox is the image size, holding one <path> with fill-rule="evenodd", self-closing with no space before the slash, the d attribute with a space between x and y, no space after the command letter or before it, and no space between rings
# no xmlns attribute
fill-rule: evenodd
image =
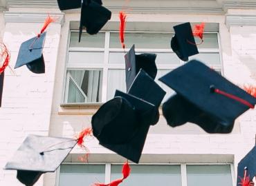
<svg viewBox="0 0 256 186"><path fill-rule="evenodd" d="M232 186L231 165L130 165L123 186ZM182 170L183 169L183 170ZM122 178L122 165L61 165L58 186L109 183Z"/></svg>

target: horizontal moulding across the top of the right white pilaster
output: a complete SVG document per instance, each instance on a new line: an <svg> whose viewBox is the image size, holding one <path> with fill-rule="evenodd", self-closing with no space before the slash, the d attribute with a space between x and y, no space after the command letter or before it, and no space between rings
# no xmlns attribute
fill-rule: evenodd
<svg viewBox="0 0 256 186"><path fill-rule="evenodd" d="M226 25L256 25L256 15L226 15Z"/></svg>

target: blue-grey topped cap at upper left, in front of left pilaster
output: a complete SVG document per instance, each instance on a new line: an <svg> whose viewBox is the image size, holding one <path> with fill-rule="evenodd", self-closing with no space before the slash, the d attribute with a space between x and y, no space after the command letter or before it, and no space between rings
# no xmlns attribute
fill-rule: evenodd
<svg viewBox="0 0 256 186"><path fill-rule="evenodd" d="M15 68L26 65L31 72L42 74L45 72L43 48L46 32L39 37L33 37L21 44Z"/></svg>

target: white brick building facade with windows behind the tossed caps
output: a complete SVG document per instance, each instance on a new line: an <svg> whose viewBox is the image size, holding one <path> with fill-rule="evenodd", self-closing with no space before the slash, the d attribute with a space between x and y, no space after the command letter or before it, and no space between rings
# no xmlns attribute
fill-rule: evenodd
<svg viewBox="0 0 256 186"><path fill-rule="evenodd" d="M35 37L51 14L44 45L45 74L26 66L7 68L0 108L0 167L12 158L28 134L74 138L91 127L91 116L116 89L125 91L124 52L119 43L119 11L127 12L125 43L136 52L157 54L156 79L183 65L170 49L173 26L205 22L199 59L233 83L256 84L256 2L222 0L120 1L103 0L112 12L109 23L96 35L84 32L78 43L80 10L61 12L55 0L0 1L1 41L10 50L13 68L22 42ZM172 94L158 82L167 96ZM232 108L230 108L232 109ZM161 112L161 108L160 108ZM122 185L236 185L237 163L255 145L256 112L237 118L230 134L207 134L188 123L172 128L161 118L147 135L140 164L131 163L131 176ZM91 185L121 176L125 158L85 141L75 147L55 173L44 174L37 186ZM16 172L0 169L0 185L21 185Z"/></svg>

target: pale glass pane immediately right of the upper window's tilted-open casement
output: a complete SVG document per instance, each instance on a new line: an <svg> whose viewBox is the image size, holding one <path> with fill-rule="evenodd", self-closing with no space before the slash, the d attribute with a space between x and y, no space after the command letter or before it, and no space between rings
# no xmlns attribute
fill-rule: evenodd
<svg viewBox="0 0 256 186"><path fill-rule="evenodd" d="M113 99L116 90L126 92L125 70L109 70L107 100Z"/></svg>

